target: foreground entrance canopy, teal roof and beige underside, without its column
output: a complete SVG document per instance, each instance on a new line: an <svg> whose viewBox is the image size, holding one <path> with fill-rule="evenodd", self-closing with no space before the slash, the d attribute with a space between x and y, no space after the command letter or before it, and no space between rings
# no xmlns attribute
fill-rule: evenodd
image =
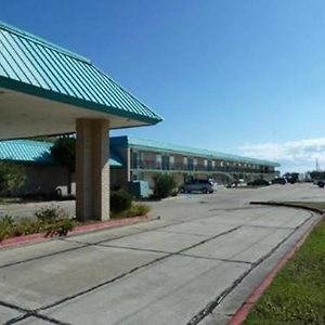
<svg viewBox="0 0 325 325"><path fill-rule="evenodd" d="M0 109L0 139L75 132L78 118L161 121L89 60L1 22Z"/></svg>

